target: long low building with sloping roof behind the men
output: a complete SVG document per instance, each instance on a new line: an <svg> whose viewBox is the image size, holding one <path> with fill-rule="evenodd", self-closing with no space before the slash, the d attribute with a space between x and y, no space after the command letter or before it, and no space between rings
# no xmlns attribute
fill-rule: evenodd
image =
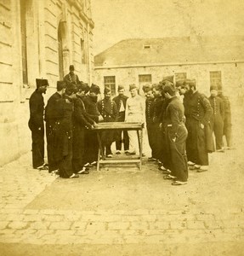
<svg viewBox="0 0 244 256"><path fill-rule="evenodd" d="M196 79L209 95L210 85L232 97L243 96L244 37L183 37L127 39L94 57L94 82L118 84L158 83L163 76Z"/></svg>

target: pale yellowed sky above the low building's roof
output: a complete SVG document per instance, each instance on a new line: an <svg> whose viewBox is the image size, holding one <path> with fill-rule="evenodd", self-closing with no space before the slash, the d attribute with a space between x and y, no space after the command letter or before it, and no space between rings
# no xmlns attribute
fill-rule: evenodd
<svg viewBox="0 0 244 256"><path fill-rule="evenodd" d="M91 0L94 55L127 38L244 35L243 0Z"/></svg>

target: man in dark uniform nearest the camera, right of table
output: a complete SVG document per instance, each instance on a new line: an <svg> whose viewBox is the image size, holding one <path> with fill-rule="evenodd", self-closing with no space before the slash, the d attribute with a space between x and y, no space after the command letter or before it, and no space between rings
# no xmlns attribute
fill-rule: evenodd
<svg viewBox="0 0 244 256"><path fill-rule="evenodd" d="M174 85L165 85L165 96L168 104L165 113L167 150L169 153L170 175L166 179L174 179L173 185L187 183L188 166L185 152L187 130L184 126L184 105L176 96Z"/></svg>

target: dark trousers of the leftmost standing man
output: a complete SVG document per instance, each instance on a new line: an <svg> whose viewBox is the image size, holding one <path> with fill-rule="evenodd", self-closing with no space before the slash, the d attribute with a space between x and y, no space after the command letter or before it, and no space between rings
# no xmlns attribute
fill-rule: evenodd
<svg viewBox="0 0 244 256"><path fill-rule="evenodd" d="M32 128L32 166L37 168L44 164L44 127L41 130Z"/></svg>

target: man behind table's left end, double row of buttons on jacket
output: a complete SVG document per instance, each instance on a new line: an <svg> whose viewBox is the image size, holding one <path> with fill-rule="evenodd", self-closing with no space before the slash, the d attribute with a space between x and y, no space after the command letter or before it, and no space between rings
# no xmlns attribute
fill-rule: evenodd
<svg viewBox="0 0 244 256"><path fill-rule="evenodd" d="M111 100L111 89L105 87L104 95L105 98L98 102L99 113L102 115L104 122L116 122L118 110L116 102ZM101 143L106 157L112 157L111 144L115 141L115 137L115 131L102 131Z"/></svg>

